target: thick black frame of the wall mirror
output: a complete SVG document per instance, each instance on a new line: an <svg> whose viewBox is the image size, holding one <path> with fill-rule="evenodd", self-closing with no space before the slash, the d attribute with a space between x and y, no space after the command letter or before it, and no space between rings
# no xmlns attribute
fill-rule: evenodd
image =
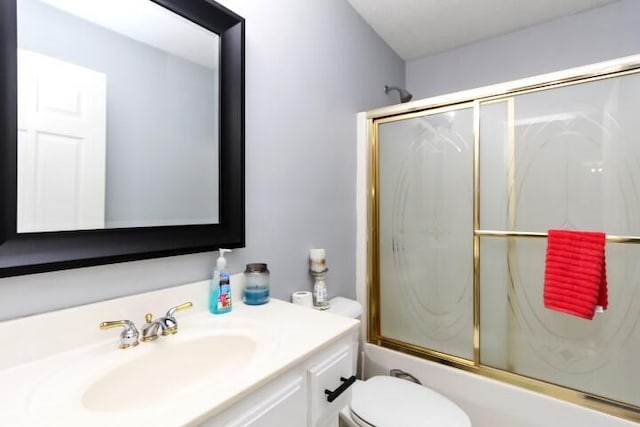
<svg viewBox="0 0 640 427"><path fill-rule="evenodd" d="M215 221L24 231L18 227L19 46L16 3L19 1L0 2L0 277L204 252L220 247L243 247L244 19L209 0L146 0L219 37L217 82L214 82L219 99L215 128L218 143L217 158L212 156L211 159L212 166L218 168ZM127 13L127 10L117 11L117 14ZM160 122L171 120L175 114L155 119L156 123L160 125ZM181 141L173 144L181 144ZM192 168L202 167L193 165ZM114 169L117 173L118 168ZM167 185L163 185L156 190L157 198L162 198L165 192L168 194ZM197 184L191 187L194 193L197 193L196 187ZM190 192L188 188L180 191Z"/></svg>

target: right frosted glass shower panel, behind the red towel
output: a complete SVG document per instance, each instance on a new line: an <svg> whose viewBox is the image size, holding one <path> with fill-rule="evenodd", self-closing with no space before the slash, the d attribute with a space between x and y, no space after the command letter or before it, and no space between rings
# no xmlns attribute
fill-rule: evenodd
<svg viewBox="0 0 640 427"><path fill-rule="evenodd" d="M638 94L631 74L481 103L481 230L640 236ZM546 239L480 239L480 362L640 406L640 246L607 243L609 309L584 320L543 305Z"/></svg>

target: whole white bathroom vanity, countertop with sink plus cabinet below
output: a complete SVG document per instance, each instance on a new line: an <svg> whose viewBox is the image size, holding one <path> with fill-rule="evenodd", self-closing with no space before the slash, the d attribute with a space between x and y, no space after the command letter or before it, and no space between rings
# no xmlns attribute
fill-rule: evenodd
<svg viewBox="0 0 640 427"><path fill-rule="evenodd" d="M232 276L232 286L241 278ZM356 371L358 321L275 298L214 316L209 286L0 322L0 336L21 344L0 356L0 384L11 385L0 387L0 425L335 426L350 398L345 381ZM193 308L180 313L176 335L133 349L120 349L119 334L98 327L186 301ZM43 340L51 325L74 328ZM148 392L158 381L165 386ZM345 391L325 394L336 389Z"/></svg>

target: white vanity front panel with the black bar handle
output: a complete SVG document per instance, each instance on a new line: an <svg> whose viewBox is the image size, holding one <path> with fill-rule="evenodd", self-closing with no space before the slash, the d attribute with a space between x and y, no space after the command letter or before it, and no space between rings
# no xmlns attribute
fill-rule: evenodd
<svg viewBox="0 0 640 427"><path fill-rule="evenodd" d="M309 384L309 426L325 423L351 400L351 378L353 371L352 348L341 345L325 357L316 359L307 370ZM342 380L341 380L342 378ZM325 393L325 390L332 392ZM331 402L329 400L332 400Z"/></svg>

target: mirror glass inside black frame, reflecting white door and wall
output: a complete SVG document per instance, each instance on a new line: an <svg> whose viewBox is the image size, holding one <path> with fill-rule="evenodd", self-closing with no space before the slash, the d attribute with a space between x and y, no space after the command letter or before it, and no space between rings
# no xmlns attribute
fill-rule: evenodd
<svg viewBox="0 0 640 427"><path fill-rule="evenodd" d="M149 0L17 5L18 232L218 223L218 36Z"/></svg>

